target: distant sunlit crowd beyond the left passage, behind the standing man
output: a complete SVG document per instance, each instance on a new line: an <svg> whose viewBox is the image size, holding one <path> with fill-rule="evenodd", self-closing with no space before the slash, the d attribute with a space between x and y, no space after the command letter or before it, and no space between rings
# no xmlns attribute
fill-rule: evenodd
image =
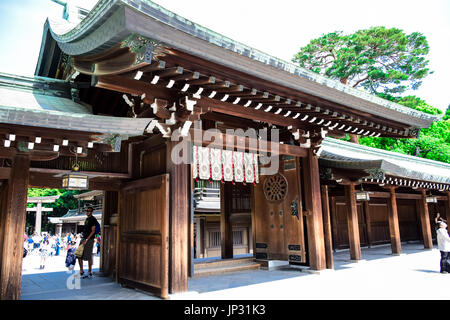
<svg viewBox="0 0 450 320"><path fill-rule="evenodd" d="M100 254L100 235L95 237L92 254ZM39 255L40 269L44 269L49 257L67 255L74 251L82 241L82 234L67 233L65 236L51 235L50 233L24 234L24 258L29 255Z"/></svg>

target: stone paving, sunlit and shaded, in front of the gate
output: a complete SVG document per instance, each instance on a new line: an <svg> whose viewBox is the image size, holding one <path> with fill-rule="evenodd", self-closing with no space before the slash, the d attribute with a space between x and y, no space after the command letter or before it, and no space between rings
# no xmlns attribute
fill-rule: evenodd
<svg viewBox="0 0 450 320"><path fill-rule="evenodd" d="M421 243L403 244L402 251L402 255L393 256L389 245L362 248L363 261L358 263L349 260L348 251L336 252L335 269L321 271L319 274L285 268L194 278L189 280L188 292L171 295L170 298L173 300L450 299L450 274L439 273L439 251L436 248L424 250ZM76 279L66 273L65 268L59 266L59 270L53 267L41 271L37 260L37 270L33 270L28 267L32 258L27 257L24 261L22 299L157 299L141 291L122 288L105 277L78 280L77 288ZM56 257L52 259L55 259L54 262L57 260ZM64 265L63 259L61 265ZM98 266L98 258L94 266ZM68 280L70 276L72 279Z"/></svg>

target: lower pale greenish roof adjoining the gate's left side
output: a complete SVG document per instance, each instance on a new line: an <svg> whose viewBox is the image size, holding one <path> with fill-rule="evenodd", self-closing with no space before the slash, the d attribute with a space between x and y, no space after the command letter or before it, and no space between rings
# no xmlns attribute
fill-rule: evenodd
<svg viewBox="0 0 450 320"><path fill-rule="evenodd" d="M93 115L70 90L67 81L0 73L0 123L137 136L153 120Z"/></svg>

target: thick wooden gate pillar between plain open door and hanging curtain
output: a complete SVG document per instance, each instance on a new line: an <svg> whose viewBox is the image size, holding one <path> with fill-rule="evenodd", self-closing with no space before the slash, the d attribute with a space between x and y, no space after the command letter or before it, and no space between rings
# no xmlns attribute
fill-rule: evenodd
<svg viewBox="0 0 450 320"><path fill-rule="evenodd" d="M189 264L190 206L189 197L190 165L172 161L172 150L177 144L187 142L168 141L166 152L167 172L170 174L170 215L169 215L169 292L187 291ZM180 145L179 145L180 146ZM189 150L190 145L182 147ZM188 157L188 155L184 155Z"/></svg>

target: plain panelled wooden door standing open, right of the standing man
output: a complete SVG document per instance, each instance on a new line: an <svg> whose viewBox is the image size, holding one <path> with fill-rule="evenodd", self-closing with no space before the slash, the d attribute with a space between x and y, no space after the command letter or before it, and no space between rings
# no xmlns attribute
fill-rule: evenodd
<svg viewBox="0 0 450 320"><path fill-rule="evenodd" d="M167 298L169 175L127 183L119 206L119 282Z"/></svg>

